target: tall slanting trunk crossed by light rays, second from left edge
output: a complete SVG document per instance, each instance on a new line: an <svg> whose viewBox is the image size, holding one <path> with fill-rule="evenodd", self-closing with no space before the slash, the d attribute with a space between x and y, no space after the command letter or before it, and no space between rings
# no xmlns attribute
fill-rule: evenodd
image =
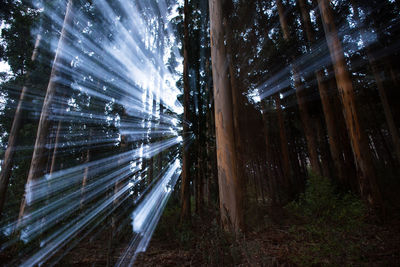
<svg viewBox="0 0 400 267"><path fill-rule="evenodd" d="M46 90L46 96L43 102L42 113L40 114L40 120L37 130L37 136L35 141L35 147L33 150L32 162L29 169L28 179L27 179L27 187L30 186L30 183L43 175L43 169L45 164L46 154L46 139L48 138L49 128L51 125L50 115L52 112L52 105L54 102L54 98L57 92L57 79L59 76L58 66L62 64L62 57L60 53L62 53L65 42L67 41L67 28L72 25L73 20L73 0L69 0L67 4L67 8L65 11L65 18L63 23L63 28L61 30L60 40L58 41L57 51L53 62L53 67L51 70L49 84ZM29 190L29 189L28 189ZM26 193L25 193L26 194ZM26 205L26 195L24 195L21 208L19 212L19 221L25 213L25 205Z"/></svg>

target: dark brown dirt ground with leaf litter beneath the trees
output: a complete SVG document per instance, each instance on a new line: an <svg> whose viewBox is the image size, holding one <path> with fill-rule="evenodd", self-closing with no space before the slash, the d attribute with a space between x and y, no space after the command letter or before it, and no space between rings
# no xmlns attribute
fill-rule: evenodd
<svg viewBox="0 0 400 267"><path fill-rule="evenodd" d="M266 213L263 227L236 237L207 217L194 218L196 227L174 229L171 222L161 221L135 266L400 266L398 218L384 223L369 220L360 231L337 236L332 242L324 239L326 233L322 237L307 234L308 225L285 210ZM114 266L129 237L122 236L112 245L109 240L107 231L84 239L71 251L58 253L63 257L56 266ZM0 266L13 258L0 256Z"/></svg>

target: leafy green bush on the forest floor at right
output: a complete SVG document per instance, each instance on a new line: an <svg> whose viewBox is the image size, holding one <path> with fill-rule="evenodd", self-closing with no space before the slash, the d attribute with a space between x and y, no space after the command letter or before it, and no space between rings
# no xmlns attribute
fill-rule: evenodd
<svg viewBox="0 0 400 267"><path fill-rule="evenodd" d="M366 209L354 195L338 194L325 177L310 174L306 191L286 207L304 220L289 232L301 244L291 259L300 266L359 262Z"/></svg>

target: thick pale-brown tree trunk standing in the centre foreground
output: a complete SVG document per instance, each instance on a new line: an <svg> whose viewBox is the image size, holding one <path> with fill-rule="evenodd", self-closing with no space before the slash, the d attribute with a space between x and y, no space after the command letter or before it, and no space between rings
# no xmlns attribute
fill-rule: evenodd
<svg viewBox="0 0 400 267"><path fill-rule="evenodd" d="M233 104L224 44L222 1L210 0L209 8L221 221L226 230L238 231L243 227L242 188L237 174Z"/></svg>

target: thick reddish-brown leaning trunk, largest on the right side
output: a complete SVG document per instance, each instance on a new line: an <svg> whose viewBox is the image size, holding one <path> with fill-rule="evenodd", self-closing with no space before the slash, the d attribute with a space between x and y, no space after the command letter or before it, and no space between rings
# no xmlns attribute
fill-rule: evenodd
<svg viewBox="0 0 400 267"><path fill-rule="evenodd" d="M349 131L357 171L359 173L360 192L372 206L381 207L382 196L377 184L372 155L368 147L368 139L366 133L361 129L358 112L356 110L353 84L350 73L347 70L342 44L340 43L338 32L334 24L329 0L318 0L318 6L321 12L325 36L342 100L343 114Z"/></svg>

